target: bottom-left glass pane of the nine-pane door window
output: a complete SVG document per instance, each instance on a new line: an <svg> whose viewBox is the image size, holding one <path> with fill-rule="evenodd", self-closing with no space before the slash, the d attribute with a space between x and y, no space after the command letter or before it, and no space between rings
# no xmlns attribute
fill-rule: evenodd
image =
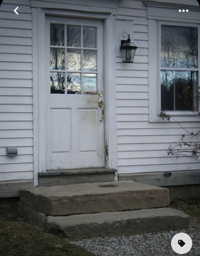
<svg viewBox="0 0 200 256"><path fill-rule="evenodd" d="M64 72L51 72L51 93L65 93Z"/></svg>

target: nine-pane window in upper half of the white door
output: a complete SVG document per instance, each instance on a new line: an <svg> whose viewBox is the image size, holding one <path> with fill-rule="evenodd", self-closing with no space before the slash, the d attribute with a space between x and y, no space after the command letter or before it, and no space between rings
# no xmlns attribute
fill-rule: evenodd
<svg viewBox="0 0 200 256"><path fill-rule="evenodd" d="M51 23L50 70L51 94L97 94L97 28Z"/></svg>

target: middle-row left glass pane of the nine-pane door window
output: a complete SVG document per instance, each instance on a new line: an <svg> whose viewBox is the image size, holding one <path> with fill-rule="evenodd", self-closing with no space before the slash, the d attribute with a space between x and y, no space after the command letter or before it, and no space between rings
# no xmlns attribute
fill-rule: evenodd
<svg viewBox="0 0 200 256"><path fill-rule="evenodd" d="M65 49L51 48L51 70L65 69Z"/></svg>

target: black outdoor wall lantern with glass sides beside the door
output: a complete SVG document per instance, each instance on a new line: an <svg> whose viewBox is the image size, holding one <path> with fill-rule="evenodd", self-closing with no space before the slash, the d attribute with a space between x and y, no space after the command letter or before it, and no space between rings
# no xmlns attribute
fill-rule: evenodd
<svg viewBox="0 0 200 256"><path fill-rule="evenodd" d="M137 48L137 46L130 42L130 34L128 35L127 40L121 40L120 49L122 54L122 61L126 63L132 63Z"/></svg>

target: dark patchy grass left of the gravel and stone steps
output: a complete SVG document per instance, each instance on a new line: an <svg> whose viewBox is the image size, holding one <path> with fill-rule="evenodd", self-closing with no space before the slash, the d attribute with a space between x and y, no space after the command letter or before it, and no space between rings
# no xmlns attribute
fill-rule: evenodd
<svg viewBox="0 0 200 256"><path fill-rule="evenodd" d="M0 203L0 256L94 256L18 218L16 205Z"/></svg>

